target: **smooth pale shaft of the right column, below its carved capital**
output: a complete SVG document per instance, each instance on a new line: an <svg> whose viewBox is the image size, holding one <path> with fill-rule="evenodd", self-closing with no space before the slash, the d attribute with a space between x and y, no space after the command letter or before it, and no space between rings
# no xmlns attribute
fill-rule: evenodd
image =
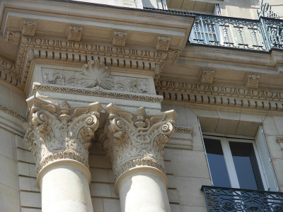
<svg viewBox="0 0 283 212"><path fill-rule="evenodd" d="M170 212L166 184L155 168L137 168L120 179L119 195L123 212Z"/></svg>

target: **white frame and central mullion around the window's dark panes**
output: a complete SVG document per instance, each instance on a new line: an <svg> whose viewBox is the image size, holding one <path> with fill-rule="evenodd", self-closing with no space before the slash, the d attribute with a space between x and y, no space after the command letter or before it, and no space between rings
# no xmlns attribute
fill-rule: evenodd
<svg viewBox="0 0 283 212"><path fill-rule="evenodd" d="M233 158L232 158L231 150L230 150L230 147L229 147L229 141L236 141L236 142L243 142L243 143L253 143L253 149L255 151L255 157L256 157L257 162L258 162L258 168L260 170L260 176L262 178L262 184L263 184L265 191L268 190L267 179L265 177L264 169L263 169L263 166L262 166L262 163L261 163L261 160L260 160L260 155L258 153L258 147L256 146L254 139L245 138L245 137L243 137L241 139L237 139L237 138L233 138L233 137L230 137L230 136L224 136L224 135L223 136L221 136L221 135L220 136L209 136L205 133L203 134L203 139L220 140L222 151L224 153L224 159L225 159L226 168L227 168L227 171L228 171L231 187L232 188L238 188L238 189L240 189L240 184L238 182L238 177L237 177L235 165L233 163ZM204 146L204 148L205 148L205 146ZM205 153L206 153L206 151L205 151ZM207 164L209 165L208 160L207 160ZM210 168L209 168L209 172L210 172ZM211 176L211 179L212 179L212 176ZM212 185L213 185L213 179L212 179Z"/></svg>

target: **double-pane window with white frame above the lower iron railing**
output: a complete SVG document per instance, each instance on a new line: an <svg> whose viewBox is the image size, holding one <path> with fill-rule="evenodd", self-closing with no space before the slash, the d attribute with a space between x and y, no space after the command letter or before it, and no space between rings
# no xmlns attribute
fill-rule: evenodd
<svg viewBox="0 0 283 212"><path fill-rule="evenodd" d="M262 132L255 140L203 136L214 187L279 191Z"/></svg>

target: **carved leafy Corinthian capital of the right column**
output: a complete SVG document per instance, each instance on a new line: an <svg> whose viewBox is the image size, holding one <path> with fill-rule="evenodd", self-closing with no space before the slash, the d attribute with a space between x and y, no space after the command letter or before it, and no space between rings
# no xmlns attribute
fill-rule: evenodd
<svg viewBox="0 0 283 212"><path fill-rule="evenodd" d="M108 138L103 148L112 161L116 180L134 167L155 167L165 174L164 146L174 133L174 110L146 114L144 107L137 113L127 112L115 105L105 108L108 115Z"/></svg>

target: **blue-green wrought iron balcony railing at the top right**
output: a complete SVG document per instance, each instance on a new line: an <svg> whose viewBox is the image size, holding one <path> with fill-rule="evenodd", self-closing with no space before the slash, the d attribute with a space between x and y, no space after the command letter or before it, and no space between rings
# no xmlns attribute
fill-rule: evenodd
<svg viewBox="0 0 283 212"><path fill-rule="evenodd" d="M189 42L260 51L283 49L283 20L196 15Z"/></svg>

